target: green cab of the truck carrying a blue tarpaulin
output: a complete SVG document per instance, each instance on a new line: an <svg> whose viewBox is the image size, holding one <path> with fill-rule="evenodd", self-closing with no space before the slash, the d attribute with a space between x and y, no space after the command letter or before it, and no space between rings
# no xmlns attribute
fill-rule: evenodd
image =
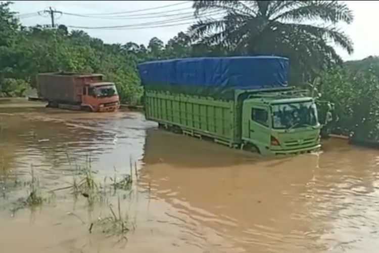
<svg viewBox="0 0 379 253"><path fill-rule="evenodd" d="M311 97L250 96L243 101L242 141L262 154L291 154L320 148L321 125Z"/></svg>

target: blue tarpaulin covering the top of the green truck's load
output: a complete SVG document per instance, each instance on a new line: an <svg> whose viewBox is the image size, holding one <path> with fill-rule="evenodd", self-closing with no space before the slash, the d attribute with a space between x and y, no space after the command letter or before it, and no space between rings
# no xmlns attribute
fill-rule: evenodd
<svg viewBox="0 0 379 253"><path fill-rule="evenodd" d="M278 88L288 85L287 58L276 56L182 58L138 65L145 87L154 85Z"/></svg>

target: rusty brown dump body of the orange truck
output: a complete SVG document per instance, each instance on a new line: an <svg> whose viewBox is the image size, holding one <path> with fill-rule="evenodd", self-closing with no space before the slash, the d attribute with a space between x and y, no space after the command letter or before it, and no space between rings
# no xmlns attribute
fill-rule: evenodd
<svg viewBox="0 0 379 253"><path fill-rule="evenodd" d="M102 74L41 73L37 75L38 97L49 101L80 103L83 86L102 80Z"/></svg>

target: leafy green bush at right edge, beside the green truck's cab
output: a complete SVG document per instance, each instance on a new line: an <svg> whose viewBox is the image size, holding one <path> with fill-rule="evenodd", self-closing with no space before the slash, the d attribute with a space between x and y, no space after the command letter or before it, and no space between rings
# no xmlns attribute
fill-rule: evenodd
<svg viewBox="0 0 379 253"><path fill-rule="evenodd" d="M363 138L379 135L379 80L370 71L331 68L321 74L321 99L335 103L338 120L333 128Z"/></svg>

